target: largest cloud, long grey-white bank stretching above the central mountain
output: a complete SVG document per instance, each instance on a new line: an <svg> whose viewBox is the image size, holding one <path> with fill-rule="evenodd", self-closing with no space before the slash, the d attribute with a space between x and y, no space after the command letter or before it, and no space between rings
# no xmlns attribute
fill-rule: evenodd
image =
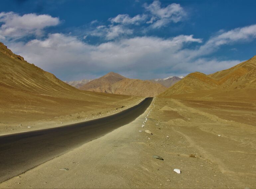
<svg viewBox="0 0 256 189"><path fill-rule="evenodd" d="M29 62L52 73L59 73L58 77L65 77L61 79L67 79L69 74L86 75L99 70L124 73L125 68L127 73L145 74L155 69L165 69L180 61L174 55L185 43L190 42L201 42L201 39L192 35L169 39L134 37L89 45L74 36L54 33L45 39L12 43L9 47Z"/></svg>

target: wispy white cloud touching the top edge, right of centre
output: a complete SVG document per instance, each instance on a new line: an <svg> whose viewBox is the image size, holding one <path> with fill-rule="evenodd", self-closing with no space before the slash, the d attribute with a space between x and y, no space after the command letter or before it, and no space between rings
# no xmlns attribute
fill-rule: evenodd
<svg viewBox="0 0 256 189"><path fill-rule="evenodd" d="M152 28L161 28L170 22L180 22L185 16L186 12L180 4L172 3L165 8L161 8L160 1L154 1L152 4L144 5L145 9L152 14L152 18L147 23L152 23ZM154 22L156 20L156 22Z"/></svg>

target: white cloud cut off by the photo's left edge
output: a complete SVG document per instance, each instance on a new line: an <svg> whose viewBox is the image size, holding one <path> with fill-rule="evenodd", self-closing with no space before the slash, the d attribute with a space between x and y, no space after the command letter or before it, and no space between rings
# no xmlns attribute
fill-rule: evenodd
<svg viewBox="0 0 256 189"><path fill-rule="evenodd" d="M20 16L14 12L1 12L0 23L3 23L0 36L16 38L28 34L41 35L44 28L56 26L60 20L50 15L25 14Z"/></svg>

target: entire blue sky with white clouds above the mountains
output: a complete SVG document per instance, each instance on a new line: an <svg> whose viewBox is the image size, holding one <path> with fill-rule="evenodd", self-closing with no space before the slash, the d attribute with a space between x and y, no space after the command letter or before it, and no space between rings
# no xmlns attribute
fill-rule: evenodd
<svg viewBox="0 0 256 189"><path fill-rule="evenodd" d="M0 41L64 81L205 74L256 55L256 1L1 0Z"/></svg>

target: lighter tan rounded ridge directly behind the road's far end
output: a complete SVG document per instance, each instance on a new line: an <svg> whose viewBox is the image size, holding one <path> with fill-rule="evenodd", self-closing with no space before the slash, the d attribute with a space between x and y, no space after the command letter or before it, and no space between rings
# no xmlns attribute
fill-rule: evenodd
<svg viewBox="0 0 256 189"><path fill-rule="evenodd" d="M133 96L157 96L166 90L158 83L138 79L123 79L112 85L112 93Z"/></svg>

